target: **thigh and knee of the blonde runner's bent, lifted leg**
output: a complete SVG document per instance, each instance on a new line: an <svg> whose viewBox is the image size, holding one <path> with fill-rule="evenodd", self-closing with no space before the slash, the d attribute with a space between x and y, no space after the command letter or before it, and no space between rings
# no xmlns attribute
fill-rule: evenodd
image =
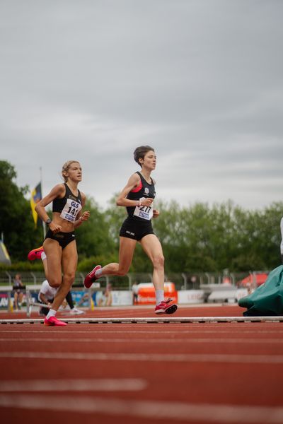
<svg viewBox="0 0 283 424"><path fill-rule="evenodd" d="M62 247L56 240L50 238L45 239L43 247L46 254L46 259L43 261L45 276L49 285L57 288L62 282Z"/></svg>

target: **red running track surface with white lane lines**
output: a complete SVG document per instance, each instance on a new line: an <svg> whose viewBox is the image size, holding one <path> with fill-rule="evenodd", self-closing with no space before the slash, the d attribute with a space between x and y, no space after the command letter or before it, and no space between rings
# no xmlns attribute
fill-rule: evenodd
<svg viewBox="0 0 283 424"><path fill-rule="evenodd" d="M174 317L242 312L180 307ZM90 316L155 317L152 307ZM0 340L2 423L283 423L279 322L0 324Z"/></svg>

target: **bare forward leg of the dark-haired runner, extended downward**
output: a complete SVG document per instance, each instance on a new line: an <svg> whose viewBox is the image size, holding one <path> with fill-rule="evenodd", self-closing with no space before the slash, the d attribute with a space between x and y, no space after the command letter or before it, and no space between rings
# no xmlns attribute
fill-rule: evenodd
<svg viewBox="0 0 283 424"><path fill-rule="evenodd" d="M148 234L141 239L141 247L154 266L152 282L156 290L164 290L164 257L161 242L155 234Z"/></svg>

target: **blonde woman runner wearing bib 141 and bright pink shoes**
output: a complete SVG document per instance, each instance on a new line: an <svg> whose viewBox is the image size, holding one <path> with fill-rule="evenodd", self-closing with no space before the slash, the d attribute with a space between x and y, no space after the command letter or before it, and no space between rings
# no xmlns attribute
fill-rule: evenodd
<svg viewBox="0 0 283 424"><path fill-rule="evenodd" d="M49 227L43 247L35 249L35 255L42 254L44 250L47 257L47 281L51 287L59 288L50 312L45 318L45 325L67 325L57 319L55 314L74 283L78 261L74 229L89 218L88 211L81 213L81 208L86 202L85 194L78 189L81 176L79 162L69 160L62 168L65 183L53 187L51 192L35 206L38 215ZM51 202L53 202L52 220L45 211L45 207Z"/></svg>

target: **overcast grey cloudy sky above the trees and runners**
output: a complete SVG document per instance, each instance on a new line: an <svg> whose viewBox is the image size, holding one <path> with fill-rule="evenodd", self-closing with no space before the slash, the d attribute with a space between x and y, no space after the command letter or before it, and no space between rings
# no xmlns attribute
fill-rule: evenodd
<svg viewBox="0 0 283 424"><path fill-rule="evenodd" d="M282 201L283 1L1 0L1 160L67 160L107 206L149 144L159 199Z"/></svg>

